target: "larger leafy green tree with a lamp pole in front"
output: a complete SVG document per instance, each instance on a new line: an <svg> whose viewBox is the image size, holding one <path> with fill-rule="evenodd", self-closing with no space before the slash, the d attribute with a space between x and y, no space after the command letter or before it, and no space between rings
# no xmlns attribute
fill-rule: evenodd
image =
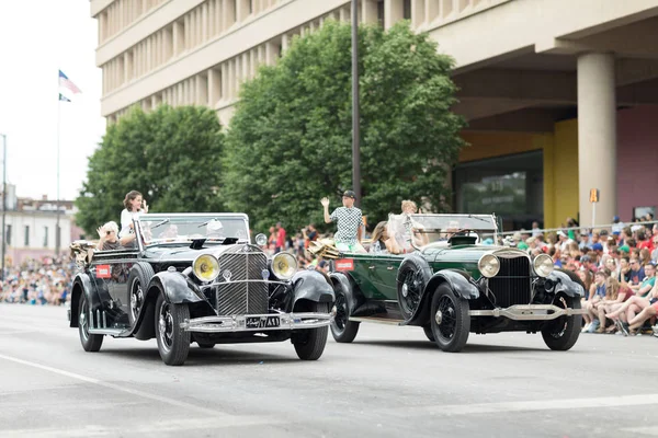
<svg viewBox="0 0 658 438"><path fill-rule="evenodd" d="M321 222L352 185L350 26L326 22L295 38L276 66L242 85L230 123L224 195L258 230ZM450 198L447 170L463 146L451 58L408 23L360 28L362 209L370 222L402 199L433 211Z"/></svg>

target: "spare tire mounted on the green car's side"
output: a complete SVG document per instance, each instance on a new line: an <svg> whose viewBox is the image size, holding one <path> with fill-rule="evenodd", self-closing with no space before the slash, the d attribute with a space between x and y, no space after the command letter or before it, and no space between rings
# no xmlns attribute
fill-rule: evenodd
<svg viewBox="0 0 658 438"><path fill-rule="evenodd" d="M426 286L431 279L431 269L427 262L419 257L402 261L397 275L398 303L405 321L413 316L420 306Z"/></svg>

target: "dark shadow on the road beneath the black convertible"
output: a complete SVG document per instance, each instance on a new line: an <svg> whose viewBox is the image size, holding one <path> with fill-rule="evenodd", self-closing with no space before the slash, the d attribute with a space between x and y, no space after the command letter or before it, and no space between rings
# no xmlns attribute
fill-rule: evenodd
<svg viewBox="0 0 658 438"><path fill-rule="evenodd" d="M136 360L140 362L150 360L154 362L162 362L157 348L106 348L101 349L100 355L121 358L122 360ZM212 349L202 349L196 345L191 345L190 355L188 356L188 360L185 360L185 366L258 365L261 361L264 364L286 364L297 362L299 359L297 359L292 346L291 356L277 356L235 348L230 349L220 345L217 345Z"/></svg>

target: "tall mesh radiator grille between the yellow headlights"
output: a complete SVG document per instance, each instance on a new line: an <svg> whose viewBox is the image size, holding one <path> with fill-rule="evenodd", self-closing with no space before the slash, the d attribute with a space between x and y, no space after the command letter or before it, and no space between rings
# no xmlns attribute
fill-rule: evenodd
<svg viewBox="0 0 658 438"><path fill-rule="evenodd" d="M219 256L219 281L230 272L230 284L217 287L217 312L220 315L268 313L268 285L262 272L268 268L268 256L252 245L237 245ZM235 283L234 283L235 281Z"/></svg>

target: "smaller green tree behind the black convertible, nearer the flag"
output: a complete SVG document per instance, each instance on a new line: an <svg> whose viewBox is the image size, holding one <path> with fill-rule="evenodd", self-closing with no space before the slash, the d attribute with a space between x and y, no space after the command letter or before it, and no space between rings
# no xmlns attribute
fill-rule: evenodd
<svg viewBox="0 0 658 438"><path fill-rule="evenodd" d="M150 212L223 211L224 138L209 108L133 108L107 127L89 158L87 182L76 200L78 224L95 233L104 222L118 221L129 191L144 194Z"/></svg>

